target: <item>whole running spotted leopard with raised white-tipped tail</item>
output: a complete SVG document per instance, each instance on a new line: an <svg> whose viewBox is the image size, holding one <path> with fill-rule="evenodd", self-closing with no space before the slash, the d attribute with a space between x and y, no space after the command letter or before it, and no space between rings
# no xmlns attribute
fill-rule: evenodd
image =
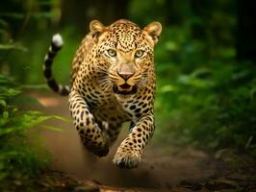
<svg viewBox="0 0 256 192"><path fill-rule="evenodd" d="M130 123L113 158L119 168L138 167L155 131L154 46L161 33L158 21L141 29L128 19L108 26L92 20L72 60L70 85L58 84L51 67L64 44L60 34L52 37L44 59L46 82L53 91L68 95L73 125L90 153L107 156L122 124Z"/></svg>

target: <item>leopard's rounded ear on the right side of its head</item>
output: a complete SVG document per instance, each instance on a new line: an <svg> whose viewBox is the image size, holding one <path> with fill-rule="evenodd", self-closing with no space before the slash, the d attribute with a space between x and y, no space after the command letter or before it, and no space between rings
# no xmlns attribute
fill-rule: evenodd
<svg viewBox="0 0 256 192"><path fill-rule="evenodd" d="M149 23L144 29L143 32L146 34L148 37L149 41L152 43L154 46L158 38L162 32L162 25L160 22L154 21L152 23Z"/></svg>

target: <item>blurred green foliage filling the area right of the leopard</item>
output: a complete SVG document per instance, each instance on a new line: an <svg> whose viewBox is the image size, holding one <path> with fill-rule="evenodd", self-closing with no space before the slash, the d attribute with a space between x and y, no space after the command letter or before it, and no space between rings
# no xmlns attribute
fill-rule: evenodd
<svg viewBox="0 0 256 192"><path fill-rule="evenodd" d="M256 156L256 66L236 61L236 15L215 5L212 25L192 14L179 25L164 25L155 51L156 137ZM195 24L200 37L194 36ZM218 32L211 31L216 25Z"/></svg>

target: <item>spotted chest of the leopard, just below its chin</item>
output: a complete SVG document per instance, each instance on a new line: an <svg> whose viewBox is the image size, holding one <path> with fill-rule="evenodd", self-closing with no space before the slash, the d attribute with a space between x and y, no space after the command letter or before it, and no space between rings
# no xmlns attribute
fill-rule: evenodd
<svg viewBox="0 0 256 192"><path fill-rule="evenodd" d="M95 95L92 91L89 95ZM132 96L116 95L112 92L98 95L97 99L89 96L86 98L91 113L98 121L123 123L137 122L143 114L151 112L152 96L134 94Z"/></svg>

